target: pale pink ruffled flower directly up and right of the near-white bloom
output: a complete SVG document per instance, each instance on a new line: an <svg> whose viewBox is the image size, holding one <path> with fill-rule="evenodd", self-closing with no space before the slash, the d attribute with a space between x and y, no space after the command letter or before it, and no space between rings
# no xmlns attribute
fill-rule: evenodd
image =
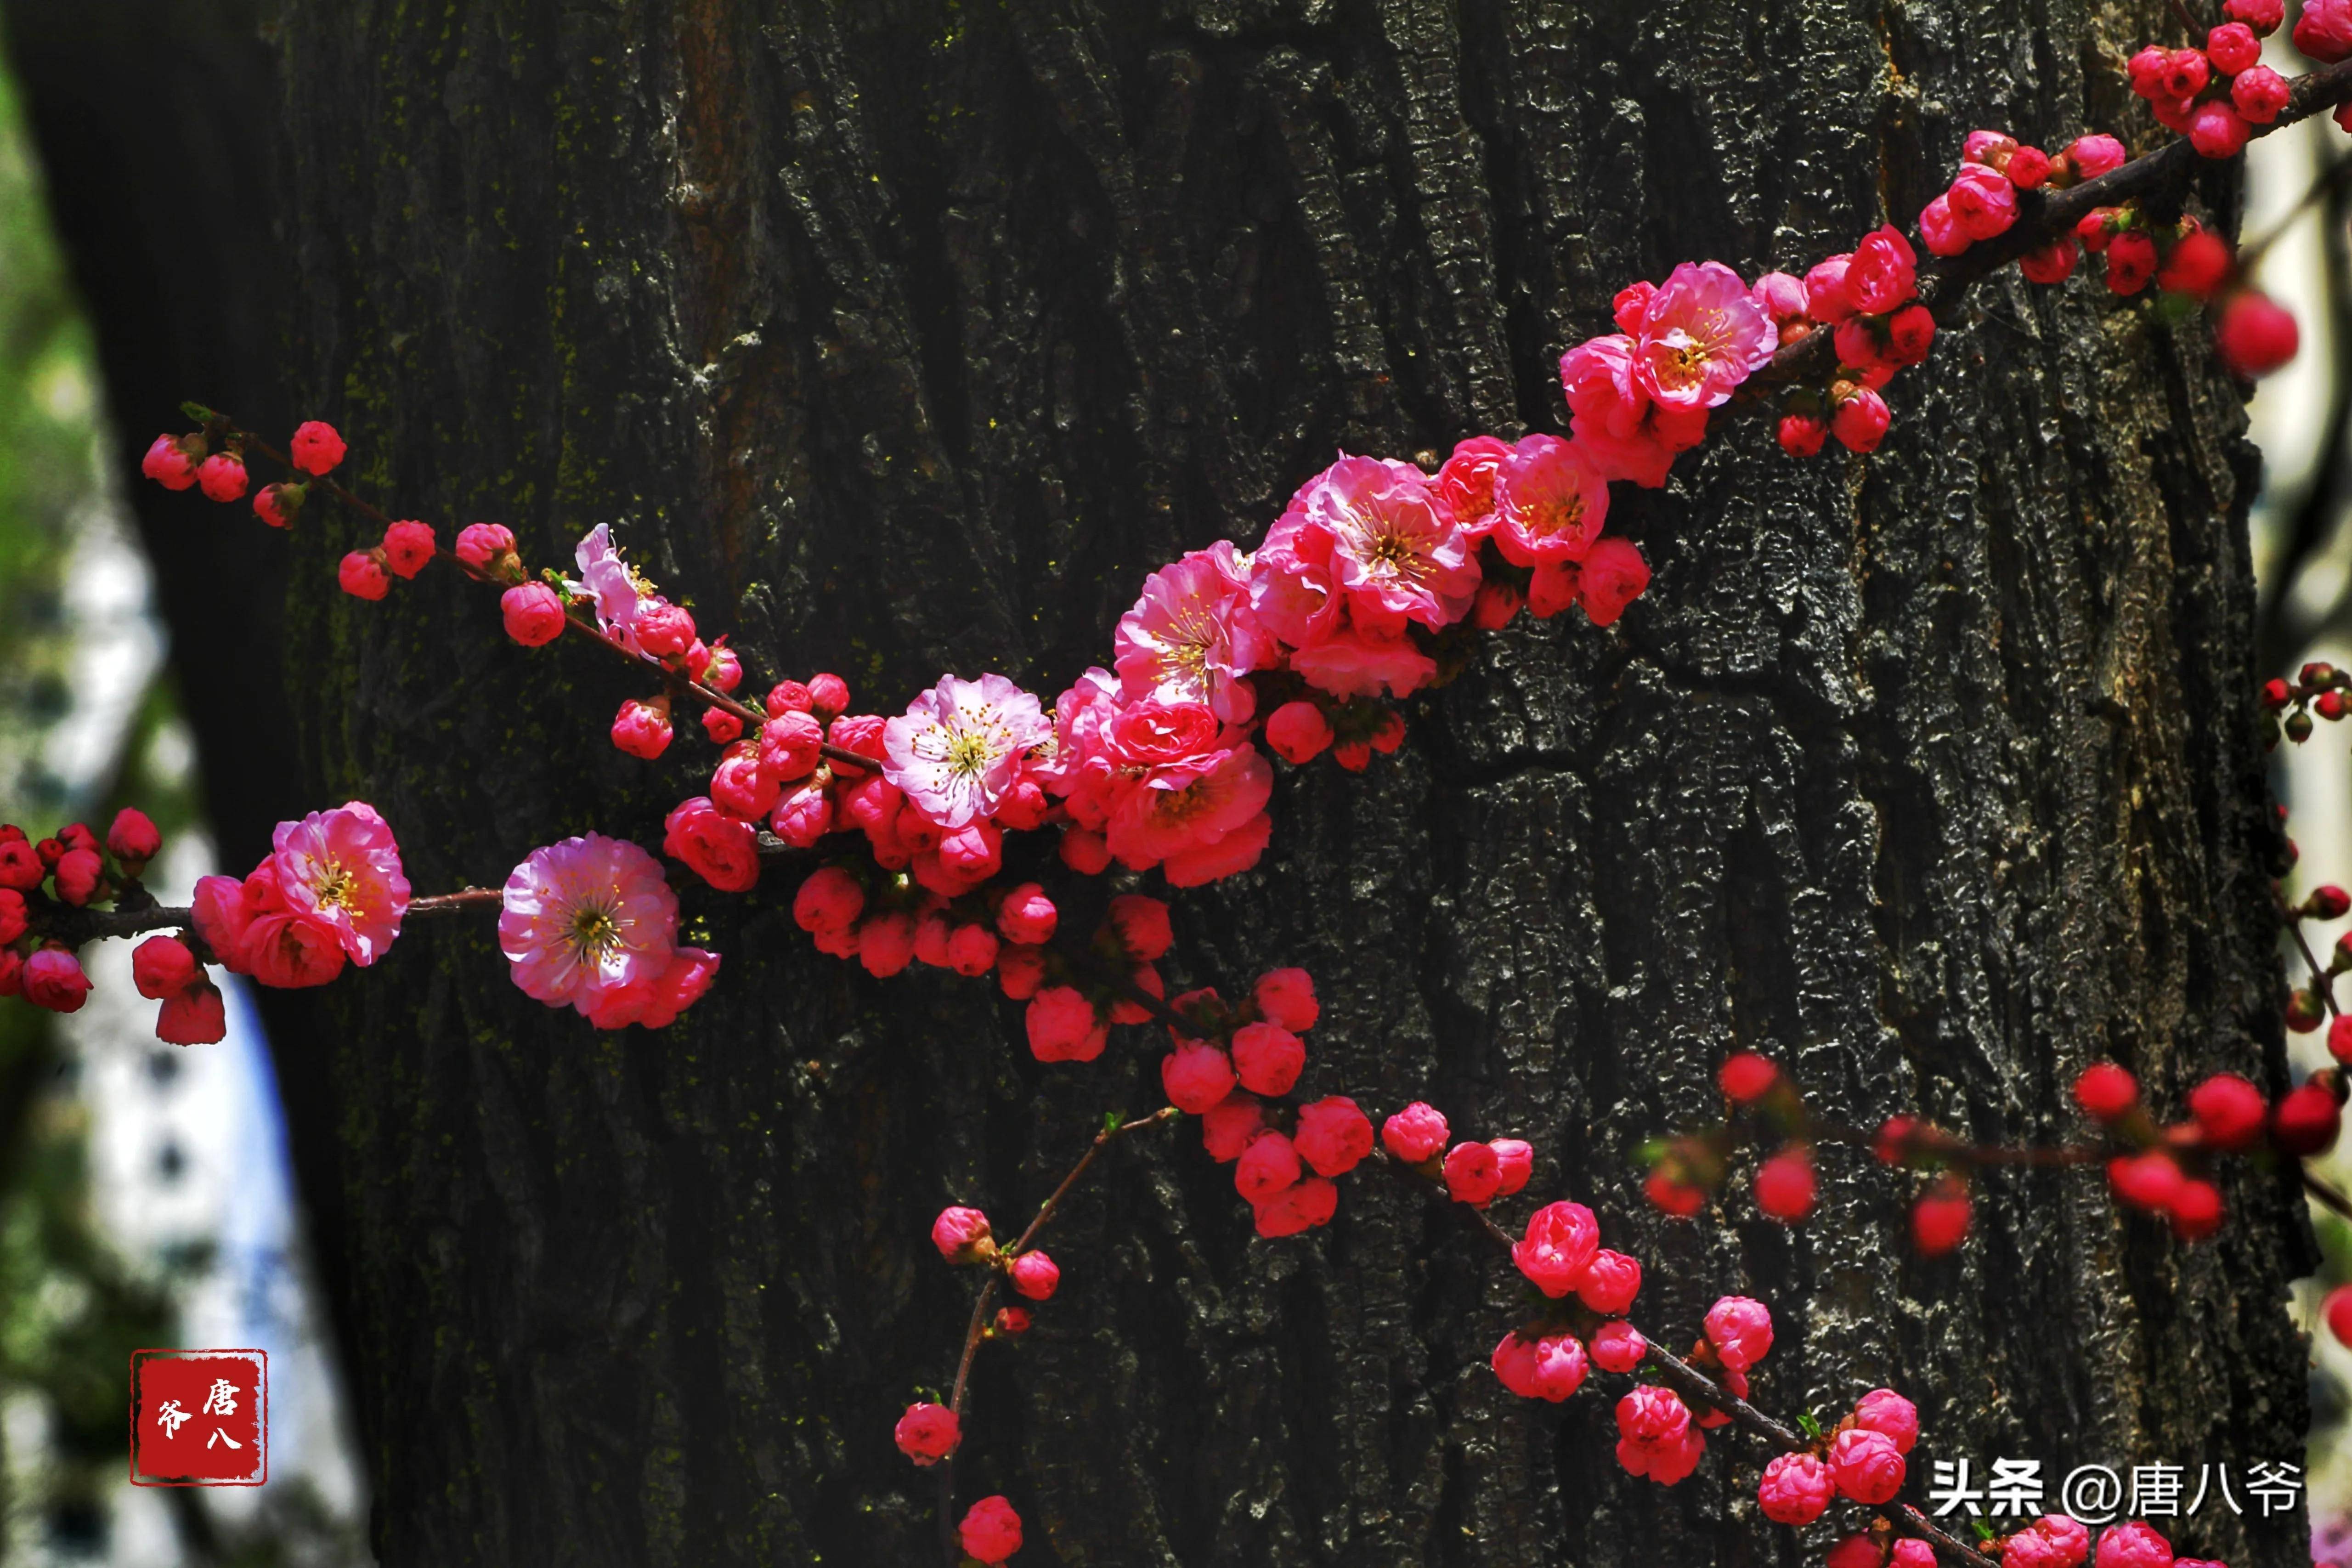
<svg viewBox="0 0 2352 1568"><path fill-rule="evenodd" d="M1207 703L1228 724L1258 710L1244 677L1275 663L1272 637L1249 607L1247 562L1223 538L1143 578L1112 646L1127 696Z"/></svg>

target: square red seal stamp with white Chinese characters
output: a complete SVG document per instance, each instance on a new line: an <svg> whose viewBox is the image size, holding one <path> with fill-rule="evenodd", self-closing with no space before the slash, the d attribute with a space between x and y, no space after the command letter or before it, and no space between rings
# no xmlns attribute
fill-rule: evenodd
<svg viewBox="0 0 2352 1568"><path fill-rule="evenodd" d="M268 1479L268 1352L132 1352L132 1486L261 1486Z"/></svg>

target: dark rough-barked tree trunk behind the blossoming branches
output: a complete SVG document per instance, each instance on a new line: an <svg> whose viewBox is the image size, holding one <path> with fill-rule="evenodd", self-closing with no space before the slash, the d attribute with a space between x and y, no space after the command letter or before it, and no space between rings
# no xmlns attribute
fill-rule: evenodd
<svg viewBox="0 0 2352 1568"><path fill-rule="evenodd" d="M292 0L294 386L397 515L503 520L534 569L614 522L755 686L1051 698L1148 569L1254 545L1334 447L1562 430L1557 357L1623 282L1804 270L1907 223L1976 125L2145 129L2117 66L2173 26L2119 9ZM1715 1114L1731 1048L1825 1117L1980 1140L2074 1131L2100 1056L2171 1107L2286 1077L2230 381L2096 277L2011 273L1891 402L1872 458L1722 418L1665 491L1618 487L1656 569L1625 621L1522 618L1395 757L1284 771L1265 863L1176 896L1169 978L1308 966L1303 1088L1529 1138L1531 1194L1644 1258L1658 1331L1769 1300L1766 1408L1917 1396L1912 1495L1929 1460L2053 1490L2298 1460L2291 1173L2237 1175L2194 1248L2093 1173L1997 1175L1940 1262L1903 1241L1917 1178L1851 1152L1795 1232L1642 1201L1637 1147ZM699 738L619 755L637 686L508 644L456 574L336 595L365 543L294 531L287 686L313 804L372 799L419 891L586 827L654 844L703 788ZM527 1001L482 919L416 924L282 1041L329 1063L386 1563L936 1561L889 1441L971 1305L929 1220L1033 1211L1105 1110L1160 1103L1162 1046L1042 1067L988 983L811 952L795 882L682 889L727 966L666 1032ZM1051 1251L955 1474L1028 1516L1023 1563L1804 1561L1752 1441L1661 1490L1609 1458L1613 1380L1508 1396L1517 1281L1378 1171L1258 1241L1155 1131ZM2169 1533L2284 1568L2300 1530L2209 1502Z"/></svg>

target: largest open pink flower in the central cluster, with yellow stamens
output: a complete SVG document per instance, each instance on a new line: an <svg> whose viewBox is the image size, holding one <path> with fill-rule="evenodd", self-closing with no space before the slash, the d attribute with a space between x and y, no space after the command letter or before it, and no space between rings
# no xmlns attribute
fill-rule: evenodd
<svg viewBox="0 0 2352 1568"><path fill-rule="evenodd" d="M1470 614L1479 571L1454 512L1425 473L1345 451L1298 491L1291 510L1331 536L1331 571L1357 625L1451 625Z"/></svg>

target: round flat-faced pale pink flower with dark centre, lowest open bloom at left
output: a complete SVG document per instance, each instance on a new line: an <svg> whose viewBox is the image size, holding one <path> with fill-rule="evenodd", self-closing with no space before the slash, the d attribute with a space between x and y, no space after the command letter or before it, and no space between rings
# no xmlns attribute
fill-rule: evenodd
<svg viewBox="0 0 2352 1568"><path fill-rule="evenodd" d="M548 844L506 879L499 950L515 985L548 1006L569 1001L600 1027L635 1023L654 1004L675 940L677 896L661 863L626 839Z"/></svg>

